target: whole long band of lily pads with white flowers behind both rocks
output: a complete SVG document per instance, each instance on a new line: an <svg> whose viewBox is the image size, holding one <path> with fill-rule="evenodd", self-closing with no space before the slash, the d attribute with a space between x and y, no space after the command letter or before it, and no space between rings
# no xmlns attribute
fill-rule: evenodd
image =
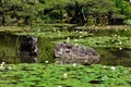
<svg viewBox="0 0 131 87"><path fill-rule="evenodd" d="M118 27L120 29L120 27ZM116 28L114 28L116 29ZM56 32L40 32L40 33L17 33L16 35L32 35L39 38L48 38L52 44L68 41L71 44L79 44L90 47L115 47L115 48L130 48L131 35L128 29L98 29L98 30L56 30ZM97 37L96 37L97 36Z"/></svg>

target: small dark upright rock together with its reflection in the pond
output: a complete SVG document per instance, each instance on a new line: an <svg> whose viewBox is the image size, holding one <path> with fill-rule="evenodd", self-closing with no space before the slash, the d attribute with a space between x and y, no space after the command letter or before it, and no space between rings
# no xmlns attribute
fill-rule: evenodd
<svg viewBox="0 0 131 87"><path fill-rule="evenodd" d="M23 63L34 63L37 62L38 47L37 38L27 36L22 40L20 46L20 57Z"/></svg>

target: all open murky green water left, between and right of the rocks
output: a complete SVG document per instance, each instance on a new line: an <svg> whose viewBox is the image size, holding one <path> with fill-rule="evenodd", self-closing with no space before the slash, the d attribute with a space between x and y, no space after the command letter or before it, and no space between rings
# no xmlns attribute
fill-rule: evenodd
<svg viewBox="0 0 131 87"><path fill-rule="evenodd" d="M20 44L24 36L0 33L0 62L21 63ZM38 62L53 62L55 45L48 38L38 38ZM130 48L95 48L100 55L99 64L131 66Z"/></svg>

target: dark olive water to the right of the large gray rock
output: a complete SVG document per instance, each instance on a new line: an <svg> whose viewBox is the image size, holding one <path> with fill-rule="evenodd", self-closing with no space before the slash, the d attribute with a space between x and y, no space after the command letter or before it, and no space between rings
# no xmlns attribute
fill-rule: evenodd
<svg viewBox="0 0 131 87"><path fill-rule="evenodd" d="M131 66L130 48L95 48L100 55L100 64Z"/></svg>

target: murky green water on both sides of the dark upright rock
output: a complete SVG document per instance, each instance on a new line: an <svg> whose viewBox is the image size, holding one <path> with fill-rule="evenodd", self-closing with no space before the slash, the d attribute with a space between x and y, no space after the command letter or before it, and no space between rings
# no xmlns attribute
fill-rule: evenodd
<svg viewBox="0 0 131 87"><path fill-rule="evenodd" d="M0 33L0 62L21 63L20 45L25 36ZM53 61L53 45L48 38L38 38L38 62Z"/></svg>

